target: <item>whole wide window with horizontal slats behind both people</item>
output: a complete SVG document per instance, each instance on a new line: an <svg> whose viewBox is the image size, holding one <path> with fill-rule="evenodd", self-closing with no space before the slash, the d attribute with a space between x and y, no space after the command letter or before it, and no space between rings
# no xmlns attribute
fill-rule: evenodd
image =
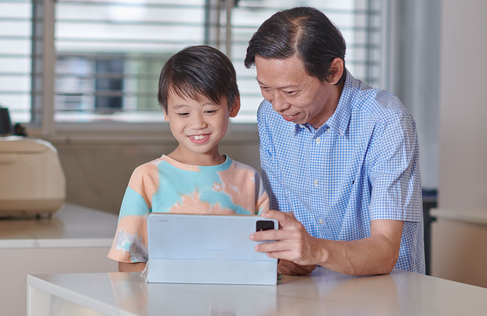
<svg viewBox="0 0 487 316"><path fill-rule="evenodd" d="M243 65L248 40L272 14L299 5L314 6L337 24L347 43L346 66L356 78L386 85L386 0L57 0L51 6L49 0L0 1L0 104L9 107L14 122L71 128L100 121L164 122L156 100L162 66L182 48L206 44L227 53L237 70L242 109L233 122L255 123L262 95L255 69ZM55 19L39 25L33 12ZM36 31L50 30L46 23L54 34ZM49 50L32 51L39 40L55 49L51 76L45 74L49 68L38 66L49 65ZM32 98L37 94L42 101Z"/></svg>

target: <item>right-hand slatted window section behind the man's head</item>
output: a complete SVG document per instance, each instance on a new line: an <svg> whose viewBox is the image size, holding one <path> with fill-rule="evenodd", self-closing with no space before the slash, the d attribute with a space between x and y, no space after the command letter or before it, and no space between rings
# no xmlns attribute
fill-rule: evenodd
<svg viewBox="0 0 487 316"><path fill-rule="evenodd" d="M234 121L256 122L262 101L255 69L244 67L248 41L264 20L279 10L312 6L323 12L340 29L347 50L345 66L357 79L373 87L383 86L382 1L380 0L240 0L232 9L231 59L238 73L242 109Z"/></svg>

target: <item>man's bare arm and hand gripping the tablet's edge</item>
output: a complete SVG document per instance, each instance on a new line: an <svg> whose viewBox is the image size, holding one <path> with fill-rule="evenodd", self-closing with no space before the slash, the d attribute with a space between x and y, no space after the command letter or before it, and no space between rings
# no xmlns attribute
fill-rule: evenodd
<svg viewBox="0 0 487 316"><path fill-rule="evenodd" d="M277 219L282 229L259 231L251 240L275 242L256 246L256 251L267 252L301 266L319 264L349 275L390 273L399 256L404 222L394 220L371 221L371 237L355 241L333 241L314 238L293 216L267 211L263 217ZM284 271L281 271L284 272Z"/></svg>

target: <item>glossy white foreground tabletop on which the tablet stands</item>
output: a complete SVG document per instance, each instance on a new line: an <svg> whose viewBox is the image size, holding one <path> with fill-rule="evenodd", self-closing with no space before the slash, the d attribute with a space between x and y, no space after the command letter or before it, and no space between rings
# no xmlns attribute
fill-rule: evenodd
<svg viewBox="0 0 487 316"><path fill-rule="evenodd" d="M138 273L28 276L28 284L103 315L484 315L487 289L399 269L351 277L325 268L272 285L146 283ZM60 298L60 299L59 299Z"/></svg>

